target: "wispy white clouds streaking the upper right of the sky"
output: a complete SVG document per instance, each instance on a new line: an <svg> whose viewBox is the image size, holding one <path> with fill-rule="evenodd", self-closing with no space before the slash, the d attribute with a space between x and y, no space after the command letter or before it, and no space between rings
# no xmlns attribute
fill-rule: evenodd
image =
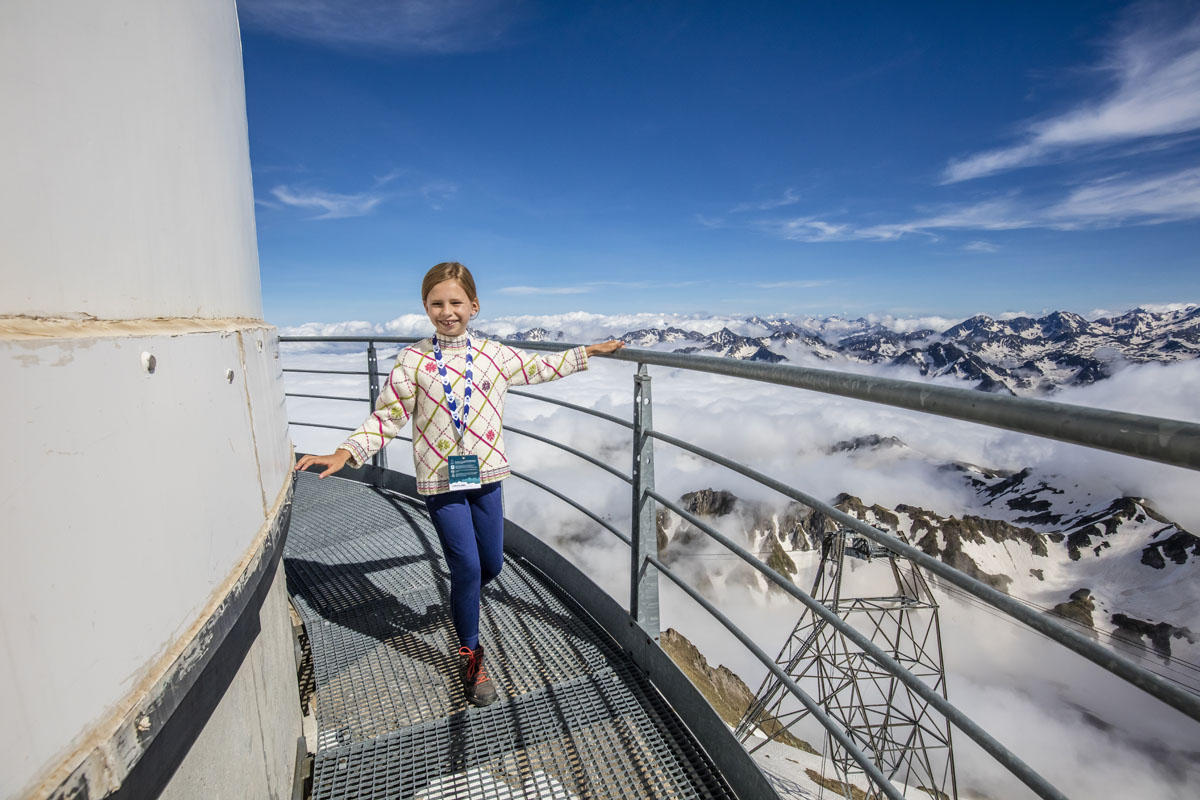
<svg viewBox="0 0 1200 800"><path fill-rule="evenodd" d="M944 184L991 175L1075 155L1111 160L1178 149L1200 133L1200 13L1142 4L1128 14L1105 58L1093 70L1108 77L1099 100L1030 122L1021 140L952 162ZM792 192L779 203L743 204L736 210L768 211L799 201ZM1200 219L1200 167L1192 163L1112 170L1100 179L1067 184L1037 197L1008 192L917 210L899 222L862 224L836 216L764 216L750 225L800 242L896 241L920 235L940 240L949 231L1021 229L1094 230ZM974 240L962 249L990 253L994 241Z"/></svg>

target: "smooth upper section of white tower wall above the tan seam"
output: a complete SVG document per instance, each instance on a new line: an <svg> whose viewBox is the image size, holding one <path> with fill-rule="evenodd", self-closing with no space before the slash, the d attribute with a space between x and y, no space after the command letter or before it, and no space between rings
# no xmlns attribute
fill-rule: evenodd
<svg viewBox="0 0 1200 800"><path fill-rule="evenodd" d="M0 88L0 314L262 315L232 0L6 0Z"/></svg>

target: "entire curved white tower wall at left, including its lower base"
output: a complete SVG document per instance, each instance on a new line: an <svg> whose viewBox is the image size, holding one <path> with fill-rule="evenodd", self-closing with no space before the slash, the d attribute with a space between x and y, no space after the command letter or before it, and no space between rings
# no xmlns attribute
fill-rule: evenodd
<svg viewBox="0 0 1200 800"><path fill-rule="evenodd" d="M257 638L182 736L224 769L169 788L286 796L292 456L234 4L0 4L0 798L134 795L259 579Z"/></svg>

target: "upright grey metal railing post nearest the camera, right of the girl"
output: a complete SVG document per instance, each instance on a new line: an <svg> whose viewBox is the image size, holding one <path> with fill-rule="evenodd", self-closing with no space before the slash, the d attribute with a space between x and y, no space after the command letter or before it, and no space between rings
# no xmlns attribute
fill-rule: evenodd
<svg viewBox="0 0 1200 800"><path fill-rule="evenodd" d="M630 548L629 613L655 642L659 638L659 571L646 560L659 554L654 498L654 427L650 375L644 363L634 375L634 524Z"/></svg>

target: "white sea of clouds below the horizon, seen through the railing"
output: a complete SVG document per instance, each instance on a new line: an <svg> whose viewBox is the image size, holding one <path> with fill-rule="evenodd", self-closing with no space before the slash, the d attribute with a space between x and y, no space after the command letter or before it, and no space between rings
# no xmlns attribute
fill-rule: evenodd
<svg viewBox="0 0 1200 800"><path fill-rule="evenodd" d="M884 323L887 319L887 323ZM959 320L878 318L899 330L944 330ZM732 317L676 314L599 315L569 313L484 319L480 330L509 335L532 327L562 331L565 341L593 342L640 327L676 326L701 332L730 327L761 333L755 324ZM282 331L310 336L425 336L422 314L370 323L307 324ZM380 348L380 365L400 345ZM361 345L282 345L287 367L364 369ZM785 353L793 363L809 362L802 353ZM856 372L920 380L911 369L880 365L845 365ZM842 365L839 365L842 368ZM532 391L565 399L622 419L631 416L634 367L593 359L588 372ZM930 417L912 411L818 395L781 386L682 369L652 368L654 427L754 467L812 495L832 499L850 492L866 504L919 505L940 515L978 511L977 498L960 479L937 469L944 462L968 462L992 469L1033 467L1087 486L1094 494L1148 498L1164 515L1192 531L1200 530L1195 503L1200 480L1194 471L1097 452L1008 431ZM938 383L955 385L953 379ZM366 379L356 375L287 374L289 392L366 397ZM1090 386L1064 389L1057 402L1200 422L1200 360L1170 365L1124 365L1111 378ZM356 427L365 402L289 398L293 421ZM571 444L625 474L630 471L630 435L624 427L548 403L511 396L508 428L535 431ZM329 452L344 434L293 426L298 451ZM834 443L878 434L896 437L924 456L902 464L881 457L829 455ZM509 457L516 469L547 482L584 506L629 529L629 487L556 447L511 432ZM392 469L412 473L406 443L388 450ZM737 474L685 451L655 445L655 477L666 497L701 488L733 492L746 500L778 507L785 500ZM505 482L505 511L518 524L554 543L612 596L628 602L629 553L605 531L566 504L511 479ZM730 523L732 524L732 522ZM731 528L726 533L739 535ZM799 557L797 583L812 579L815 557ZM800 607L782 595L764 595L721 577L733 561L710 549L680 563L694 582L710 584L709 594L768 652L775 652L796 624ZM764 668L692 601L662 581L662 626L688 636L715 663L725 663L757 688ZM1192 798L1200 787L1200 727L1039 634L998 619L974 606L942 597L942 634L950 699L1002 742L1049 777L1069 796ZM1186 609L1200 631L1196 606ZM820 746L820 732L806 730ZM994 765L965 735L954 736L960 792L977 796L1032 796ZM971 796L966 792L964 796Z"/></svg>

